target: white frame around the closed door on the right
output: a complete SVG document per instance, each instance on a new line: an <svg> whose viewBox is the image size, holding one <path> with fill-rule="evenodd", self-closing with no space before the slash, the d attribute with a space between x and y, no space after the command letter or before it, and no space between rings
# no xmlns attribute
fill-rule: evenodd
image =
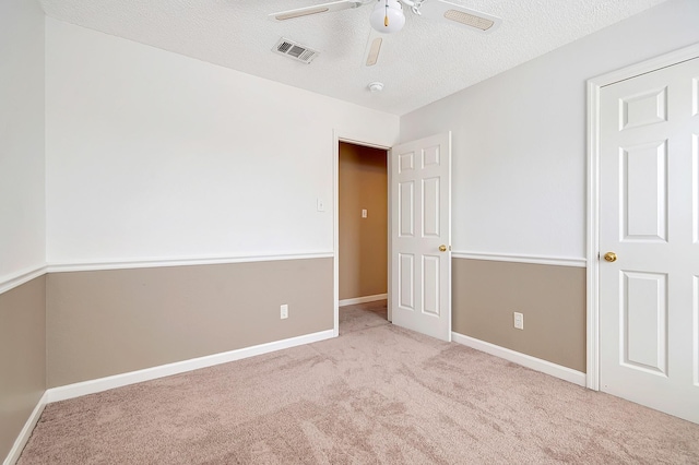
<svg viewBox="0 0 699 465"><path fill-rule="evenodd" d="M605 85L699 57L699 44L588 81L588 367L587 386L600 391L600 91ZM699 83L697 92L699 92Z"/></svg>

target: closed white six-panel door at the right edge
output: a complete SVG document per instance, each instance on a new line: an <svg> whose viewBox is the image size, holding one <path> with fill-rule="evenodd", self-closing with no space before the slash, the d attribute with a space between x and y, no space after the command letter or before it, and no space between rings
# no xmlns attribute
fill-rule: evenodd
<svg viewBox="0 0 699 465"><path fill-rule="evenodd" d="M601 389L699 422L699 59L601 90L600 205Z"/></svg>

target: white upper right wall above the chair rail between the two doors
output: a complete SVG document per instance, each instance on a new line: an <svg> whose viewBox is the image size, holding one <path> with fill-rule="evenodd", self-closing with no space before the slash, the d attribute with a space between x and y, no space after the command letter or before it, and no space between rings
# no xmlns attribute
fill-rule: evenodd
<svg viewBox="0 0 699 465"><path fill-rule="evenodd" d="M401 118L401 141L453 131L453 248L585 255L585 81L699 41L670 1Z"/></svg>

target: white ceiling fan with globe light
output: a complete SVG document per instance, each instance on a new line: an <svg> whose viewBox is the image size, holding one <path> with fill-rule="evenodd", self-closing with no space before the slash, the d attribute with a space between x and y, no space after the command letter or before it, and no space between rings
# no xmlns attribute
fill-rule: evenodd
<svg viewBox="0 0 699 465"><path fill-rule="evenodd" d="M403 5L407 7L413 14L417 16L454 24L485 34L497 29L501 22L497 16L485 14L445 0L337 0L329 3L272 13L270 14L270 19L276 21L288 21L313 14L331 13L359 8L369 3L375 3L374 11L369 16L369 23L374 31L382 34L396 33L403 28L403 25L405 25ZM382 41L383 38L380 36L375 34L369 36L367 52L365 53L365 64L367 67L371 67L377 63Z"/></svg>

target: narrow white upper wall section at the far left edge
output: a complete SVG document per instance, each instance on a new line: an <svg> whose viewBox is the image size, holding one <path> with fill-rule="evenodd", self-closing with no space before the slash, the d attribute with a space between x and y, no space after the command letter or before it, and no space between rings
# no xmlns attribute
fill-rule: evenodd
<svg viewBox="0 0 699 465"><path fill-rule="evenodd" d="M0 285L44 263L44 12L2 0Z"/></svg>

